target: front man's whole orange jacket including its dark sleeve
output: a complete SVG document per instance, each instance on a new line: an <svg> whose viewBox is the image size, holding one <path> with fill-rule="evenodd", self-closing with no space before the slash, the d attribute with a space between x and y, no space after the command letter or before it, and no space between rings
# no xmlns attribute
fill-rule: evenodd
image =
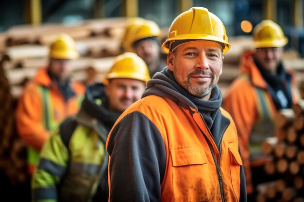
<svg viewBox="0 0 304 202"><path fill-rule="evenodd" d="M236 126L220 112L217 145L201 113L184 103L148 95L126 109L106 144L110 201L238 202L245 190Z"/></svg>

